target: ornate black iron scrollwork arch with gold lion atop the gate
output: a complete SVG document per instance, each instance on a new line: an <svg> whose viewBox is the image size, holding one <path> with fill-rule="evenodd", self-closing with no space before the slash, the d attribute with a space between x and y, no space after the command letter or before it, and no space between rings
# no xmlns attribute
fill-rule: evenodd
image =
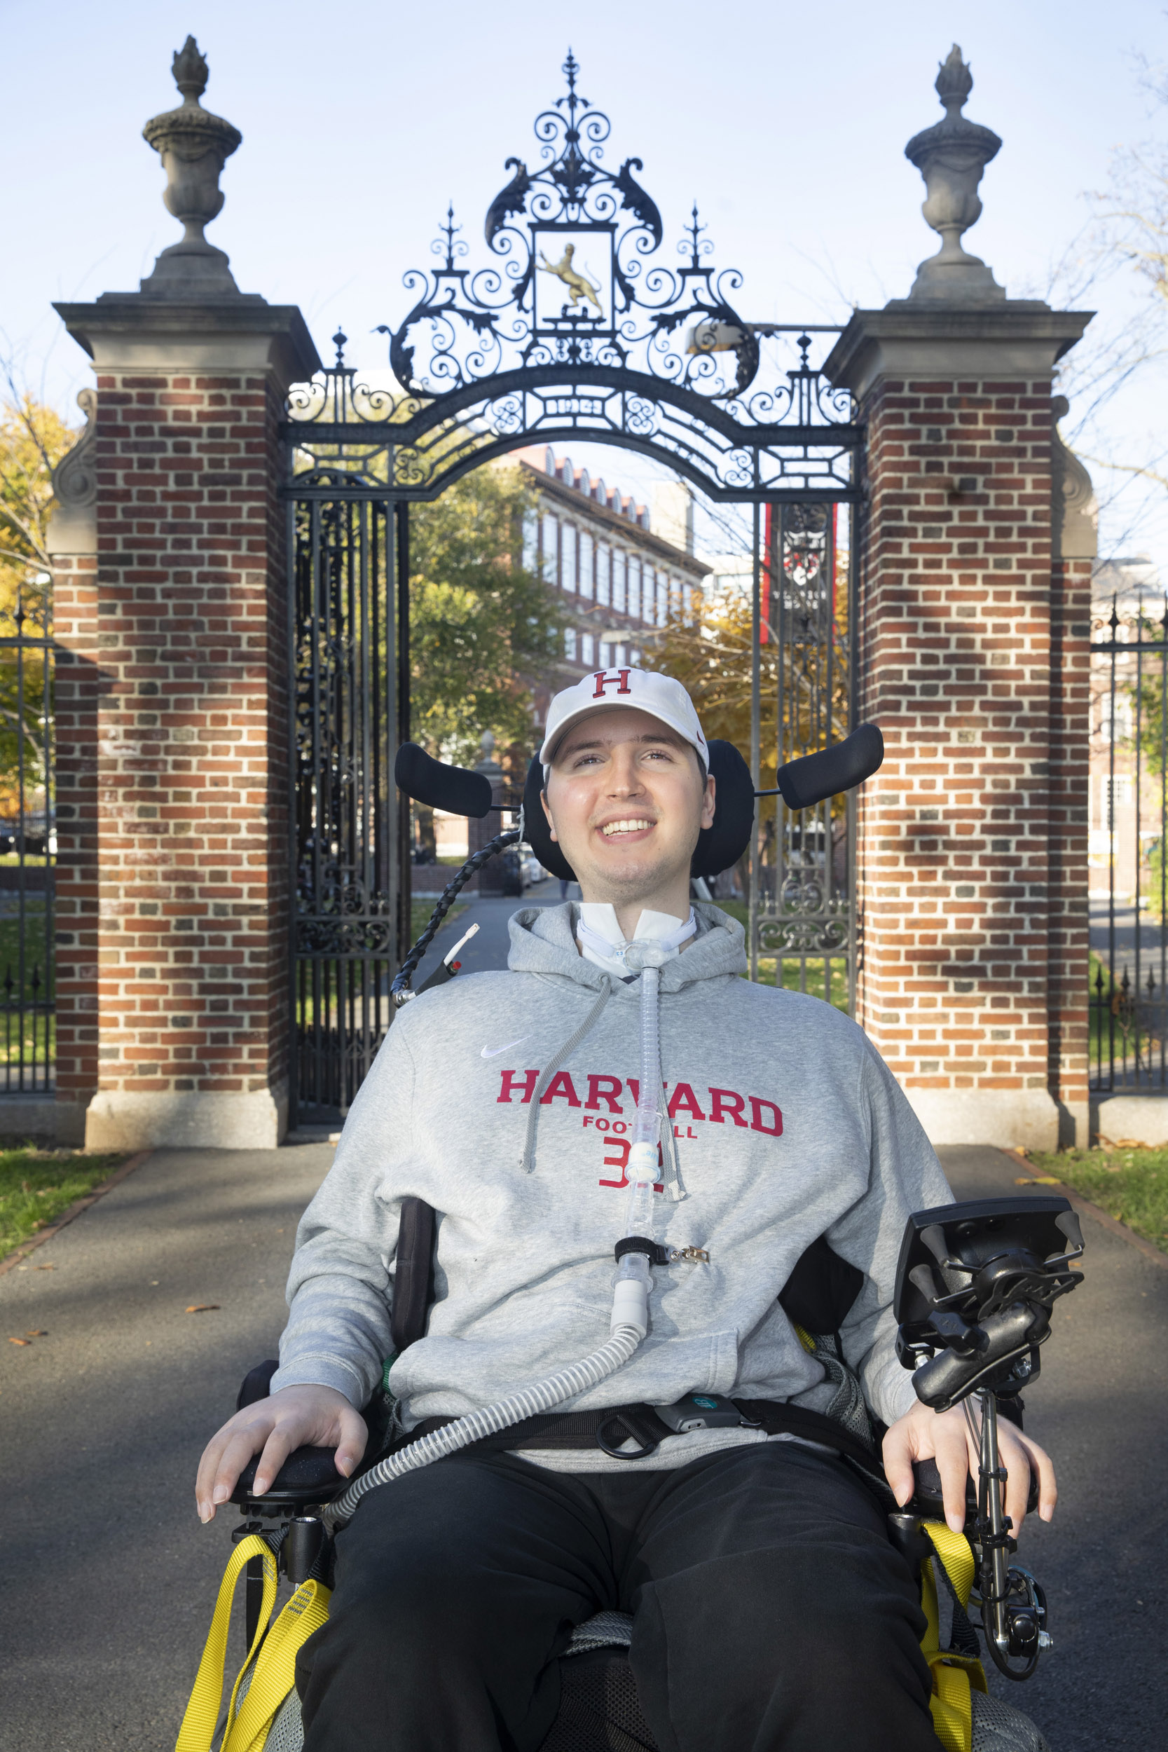
<svg viewBox="0 0 1168 1752"><path fill-rule="evenodd" d="M413 307L392 328L398 391L368 389L343 363L289 398L303 461L296 494L383 485L434 498L459 475L527 442L583 438L643 450L720 499L851 498L860 443L851 396L809 363L763 377L760 333L737 310L742 277L713 265L697 205L676 266L643 161L604 163L611 124L578 91L534 123L539 159L508 158L487 207L490 259L447 212L438 265L413 268ZM315 466L315 468L313 468Z"/></svg>

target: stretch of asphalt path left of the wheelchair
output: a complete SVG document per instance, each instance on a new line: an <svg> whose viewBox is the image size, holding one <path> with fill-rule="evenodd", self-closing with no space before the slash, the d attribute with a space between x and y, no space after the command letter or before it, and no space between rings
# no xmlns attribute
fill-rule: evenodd
<svg viewBox="0 0 1168 1752"><path fill-rule="evenodd" d="M4 1752L173 1747L235 1519L200 1526L194 1465L275 1354L331 1158L159 1151L0 1277Z"/></svg>

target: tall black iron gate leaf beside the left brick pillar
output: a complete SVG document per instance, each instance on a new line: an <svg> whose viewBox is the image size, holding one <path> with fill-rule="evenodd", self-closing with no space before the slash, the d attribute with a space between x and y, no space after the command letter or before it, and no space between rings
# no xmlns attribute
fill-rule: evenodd
<svg viewBox="0 0 1168 1752"><path fill-rule="evenodd" d="M341 378L343 382L343 378ZM292 501L294 1107L343 1114L389 1027L410 946L410 864L392 785L410 736L408 506Z"/></svg>

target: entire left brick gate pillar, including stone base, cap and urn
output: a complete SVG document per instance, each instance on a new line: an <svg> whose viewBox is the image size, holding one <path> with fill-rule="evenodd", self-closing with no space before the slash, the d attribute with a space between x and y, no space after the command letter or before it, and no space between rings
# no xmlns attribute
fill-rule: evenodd
<svg viewBox="0 0 1168 1752"><path fill-rule="evenodd" d="M172 184L207 77L189 49L184 109L147 124ZM215 158L210 124L235 130L194 109ZM180 193L191 231L200 189ZM320 361L299 310L238 293L198 237L142 291L56 308L96 375L88 494L51 533L58 1130L95 1149L273 1146L291 1016L278 420Z"/></svg>

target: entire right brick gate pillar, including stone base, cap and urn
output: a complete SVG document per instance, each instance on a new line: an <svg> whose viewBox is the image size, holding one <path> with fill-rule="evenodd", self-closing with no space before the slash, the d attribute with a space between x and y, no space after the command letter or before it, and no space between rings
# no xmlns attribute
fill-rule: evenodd
<svg viewBox="0 0 1168 1752"><path fill-rule="evenodd" d="M1056 569L1051 389L1089 315L1007 300L961 251L1000 142L954 119L954 56L947 119L907 147L942 251L827 361L869 429L860 715L888 750L860 801L858 1020L933 1142L1054 1148L1087 1135L1089 561Z"/></svg>

